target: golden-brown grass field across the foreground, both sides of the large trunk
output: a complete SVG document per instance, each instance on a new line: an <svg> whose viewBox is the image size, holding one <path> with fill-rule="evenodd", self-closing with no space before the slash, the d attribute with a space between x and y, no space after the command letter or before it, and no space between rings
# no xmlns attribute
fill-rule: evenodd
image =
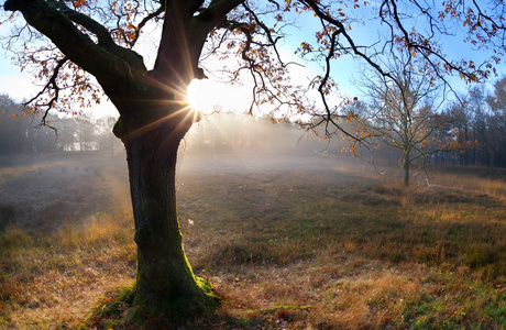
<svg viewBox="0 0 506 330"><path fill-rule="evenodd" d="M267 158L180 157L185 250L223 300L185 329L506 329L506 170L406 189L359 161ZM0 329L131 329L124 156L0 166Z"/></svg>

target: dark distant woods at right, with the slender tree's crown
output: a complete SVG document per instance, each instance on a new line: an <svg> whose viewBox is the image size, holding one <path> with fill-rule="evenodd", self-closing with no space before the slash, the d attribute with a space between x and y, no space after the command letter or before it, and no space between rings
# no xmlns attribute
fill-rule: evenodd
<svg viewBox="0 0 506 330"><path fill-rule="evenodd" d="M369 99L344 111L356 119L346 130L365 131L376 158L397 160L403 167L409 157L408 162L506 167L506 76L493 90L472 86L444 103L432 85L424 89L418 82L370 82Z"/></svg>

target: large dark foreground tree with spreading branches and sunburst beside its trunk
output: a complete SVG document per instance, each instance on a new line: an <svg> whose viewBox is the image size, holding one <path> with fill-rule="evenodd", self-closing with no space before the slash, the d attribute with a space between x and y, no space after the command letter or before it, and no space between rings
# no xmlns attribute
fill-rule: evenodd
<svg viewBox="0 0 506 330"><path fill-rule="evenodd" d="M385 28L380 41L361 42L352 34L361 26L356 11L367 8ZM411 57L426 61L435 77L451 73L472 81L493 74L505 50L505 4L496 0L487 6L447 0L439 7L416 0L383 0L380 7L358 0L7 0L3 9L14 13L6 21L18 24L3 38L4 45L19 50L20 65L36 66L36 76L45 80L41 92L29 100L35 111L79 112L73 100L89 106L101 91L118 109L113 131L127 150L138 244L133 305L151 316L191 315L213 301L186 260L175 194L179 142L201 117L186 101L188 84L206 77L201 58L235 55L240 66L231 69L230 78L250 74L254 94L250 111L254 105L273 105L305 113L311 110L302 105L306 90L287 79L289 62L277 46L297 14L316 19L316 40L298 41L298 52L323 66L323 74L311 81L321 97L316 106L322 110L311 112L339 129L329 95L334 88L331 65L340 56L351 54L388 75L377 57L407 48ZM416 29L421 20L416 13L427 26ZM453 33L447 21L463 26L476 47L493 47L496 53L483 65L444 56L439 37ZM148 69L133 48L153 24L160 25L160 40Z"/></svg>

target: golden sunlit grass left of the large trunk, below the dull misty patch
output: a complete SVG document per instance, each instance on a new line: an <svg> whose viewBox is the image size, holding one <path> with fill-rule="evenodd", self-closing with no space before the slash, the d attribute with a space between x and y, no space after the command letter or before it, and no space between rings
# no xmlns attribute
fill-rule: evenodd
<svg viewBox="0 0 506 330"><path fill-rule="evenodd" d="M101 174L96 170L91 175ZM110 189L113 197L118 188L114 175L99 179L102 189ZM68 198L82 198L79 194L84 184L77 180L68 187ZM90 193L101 194L86 191ZM62 221L54 217L65 217L65 210L41 208L43 213L37 219L53 223L45 223L42 231L25 222L7 224L0 237L0 328L78 328L105 290L132 280L132 218L128 205L120 206L118 200L111 205L116 205L113 209ZM22 217L23 209L16 215Z"/></svg>

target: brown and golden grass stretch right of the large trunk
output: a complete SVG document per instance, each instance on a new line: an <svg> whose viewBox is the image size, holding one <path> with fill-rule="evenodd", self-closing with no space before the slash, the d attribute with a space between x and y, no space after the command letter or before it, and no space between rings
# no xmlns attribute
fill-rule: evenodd
<svg viewBox="0 0 506 330"><path fill-rule="evenodd" d="M346 173L182 179L186 250L227 293L223 314L255 324L257 310L309 305L290 327L505 327L504 196L465 189L465 172L409 189Z"/></svg>

